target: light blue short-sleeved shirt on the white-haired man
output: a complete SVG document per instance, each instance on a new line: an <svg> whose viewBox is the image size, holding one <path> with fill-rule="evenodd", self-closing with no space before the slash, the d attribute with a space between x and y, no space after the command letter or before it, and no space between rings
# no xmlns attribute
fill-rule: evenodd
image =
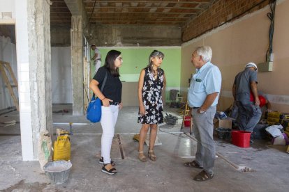
<svg viewBox="0 0 289 192"><path fill-rule="evenodd" d="M188 88L188 106L190 107L200 107L205 102L207 95L220 93L222 83L220 70L210 62L195 71L190 88ZM212 106L218 104L218 97L219 94Z"/></svg>

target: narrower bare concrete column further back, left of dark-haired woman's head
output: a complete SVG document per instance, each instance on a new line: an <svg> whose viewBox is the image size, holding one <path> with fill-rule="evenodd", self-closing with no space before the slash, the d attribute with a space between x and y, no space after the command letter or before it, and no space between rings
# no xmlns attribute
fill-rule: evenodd
<svg viewBox="0 0 289 192"><path fill-rule="evenodd" d="M84 115L82 16L71 16L71 28L73 115Z"/></svg>

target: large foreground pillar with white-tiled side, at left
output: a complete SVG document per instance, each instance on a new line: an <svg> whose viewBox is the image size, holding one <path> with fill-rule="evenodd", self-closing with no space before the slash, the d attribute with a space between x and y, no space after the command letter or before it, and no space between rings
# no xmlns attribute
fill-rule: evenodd
<svg viewBox="0 0 289 192"><path fill-rule="evenodd" d="M15 3L22 158L38 160L40 131L52 134L50 1Z"/></svg>

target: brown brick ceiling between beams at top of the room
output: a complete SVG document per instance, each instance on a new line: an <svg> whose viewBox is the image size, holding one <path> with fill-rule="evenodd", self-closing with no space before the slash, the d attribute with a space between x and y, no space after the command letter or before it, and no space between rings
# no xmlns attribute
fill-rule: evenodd
<svg viewBox="0 0 289 192"><path fill-rule="evenodd" d="M215 0L82 0L90 24L182 26L209 8ZM67 2L67 0L66 0ZM64 0L52 0L51 24L71 24Z"/></svg>

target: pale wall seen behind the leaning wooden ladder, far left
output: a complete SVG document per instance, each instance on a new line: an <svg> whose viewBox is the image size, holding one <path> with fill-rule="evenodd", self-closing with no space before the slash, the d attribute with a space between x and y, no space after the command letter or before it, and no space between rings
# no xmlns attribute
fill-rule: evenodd
<svg viewBox="0 0 289 192"><path fill-rule="evenodd" d="M10 38L5 38L3 36L0 36L0 61L6 61L10 63L14 75L17 78L16 46L10 42ZM10 80L10 83L13 84L12 79ZM15 90L14 93L18 97L16 88L13 88L13 90ZM13 103L12 97L10 96L8 88L6 88L5 83L3 82L2 75L0 74L0 110L6 109L10 106L15 105Z"/></svg>

